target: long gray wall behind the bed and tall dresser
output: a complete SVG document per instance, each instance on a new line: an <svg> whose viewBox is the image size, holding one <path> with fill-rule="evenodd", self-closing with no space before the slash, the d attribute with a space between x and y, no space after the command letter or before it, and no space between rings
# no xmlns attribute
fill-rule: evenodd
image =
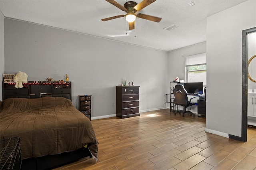
<svg viewBox="0 0 256 170"><path fill-rule="evenodd" d="M23 71L28 81L69 75L72 103L92 95L92 117L116 114L116 86L140 86L140 111L165 108L167 58L164 51L110 41L5 18L4 73ZM113 106L114 105L114 106Z"/></svg>

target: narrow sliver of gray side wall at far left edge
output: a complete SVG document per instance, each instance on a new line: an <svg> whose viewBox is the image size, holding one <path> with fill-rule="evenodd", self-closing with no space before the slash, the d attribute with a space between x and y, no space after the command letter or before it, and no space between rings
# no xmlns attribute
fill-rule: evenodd
<svg viewBox="0 0 256 170"><path fill-rule="evenodd" d="M0 101L2 101L2 81L4 74L4 16L0 12Z"/></svg>

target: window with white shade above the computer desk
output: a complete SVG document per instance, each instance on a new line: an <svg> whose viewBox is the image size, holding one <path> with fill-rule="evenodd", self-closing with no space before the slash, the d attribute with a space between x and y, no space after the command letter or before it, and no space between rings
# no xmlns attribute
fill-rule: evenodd
<svg viewBox="0 0 256 170"><path fill-rule="evenodd" d="M186 56L186 82L203 82L206 86L206 53Z"/></svg>

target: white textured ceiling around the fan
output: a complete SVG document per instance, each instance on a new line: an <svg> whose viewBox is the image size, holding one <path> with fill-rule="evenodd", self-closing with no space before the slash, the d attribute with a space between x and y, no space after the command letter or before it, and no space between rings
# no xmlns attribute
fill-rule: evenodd
<svg viewBox="0 0 256 170"><path fill-rule="evenodd" d="M139 3L142 0L134 1ZM6 18L171 51L205 42L206 18L245 1L192 0L194 5L190 6L188 3L191 0L156 0L140 13L162 20L157 23L137 18L136 29L130 31L124 17L101 21L103 18L126 14L105 0L0 0L0 11ZM127 0L116 2L124 5ZM172 24L178 27L164 30Z"/></svg>

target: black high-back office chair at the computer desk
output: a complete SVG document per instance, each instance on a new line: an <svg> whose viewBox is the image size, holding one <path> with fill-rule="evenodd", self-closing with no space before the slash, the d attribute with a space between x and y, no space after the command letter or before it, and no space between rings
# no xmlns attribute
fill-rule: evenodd
<svg viewBox="0 0 256 170"><path fill-rule="evenodd" d="M180 84L175 86L173 90L173 94L174 94L174 104L180 105L183 107L183 111L174 112L174 115L176 115L176 113L183 113L182 117L184 117L185 113L190 113L190 115L193 115L193 117L195 117L195 114L190 111L186 111L186 108L193 105L191 103L191 100L196 97L192 97L188 101L188 96L187 96L188 93L184 88L184 86Z"/></svg>

